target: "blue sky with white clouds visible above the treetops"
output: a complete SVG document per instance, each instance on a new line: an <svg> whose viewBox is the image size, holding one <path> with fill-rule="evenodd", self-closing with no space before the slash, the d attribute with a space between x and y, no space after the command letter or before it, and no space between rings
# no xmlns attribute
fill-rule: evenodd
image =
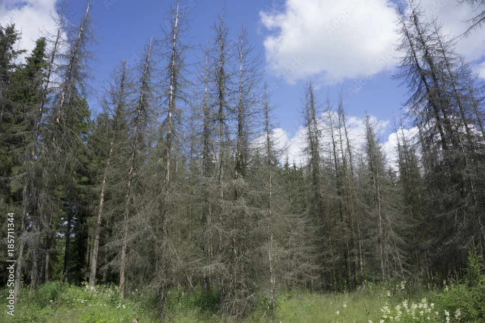
<svg viewBox="0 0 485 323"><path fill-rule="evenodd" d="M0 23L16 23L23 32L21 46L32 49L38 29L53 30L49 11L56 0L0 0ZM95 64L96 79L109 77L121 59L133 60L152 35L161 36L169 0L162 1L96 0L94 2L100 45L95 47L101 63ZM81 14L86 1L71 0L73 11ZM401 113L406 89L389 77L395 73L396 43L394 2L388 0L181 0L189 10L192 44L205 43L211 35L223 4L232 36L242 22L248 28L256 51L261 53L267 82L273 87L272 102L278 108L281 132L287 140L298 135L303 86L312 77L322 92L327 91L337 104L340 90L346 97L349 116L355 126L367 110L378 123L382 140L392 137L392 117ZM467 5L456 0L422 0L428 13L443 21L445 31L461 34L463 20L472 15ZM460 40L458 50L469 60L477 60L476 69L485 77L485 32L477 31ZM188 55L189 61L195 57ZM94 87L100 87L94 84ZM96 109L96 100L91 107ZM357 135L356 135L357 136Z"/></svg>

